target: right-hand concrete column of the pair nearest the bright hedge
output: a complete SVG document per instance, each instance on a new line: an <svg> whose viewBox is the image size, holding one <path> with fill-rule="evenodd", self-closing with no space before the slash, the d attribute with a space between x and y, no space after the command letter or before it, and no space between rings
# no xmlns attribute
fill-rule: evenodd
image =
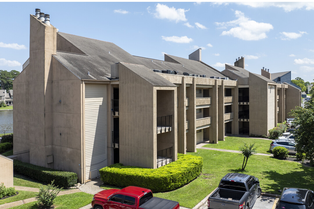
<svg viewBox="0 0 314 209"><path fill-rule="evenodd" d="M187 88L187 94L190 98L190 104L187 110L187 120L190 123L187 133L187 152L196 152L196 84L193 78L192 84Z"/></svg>

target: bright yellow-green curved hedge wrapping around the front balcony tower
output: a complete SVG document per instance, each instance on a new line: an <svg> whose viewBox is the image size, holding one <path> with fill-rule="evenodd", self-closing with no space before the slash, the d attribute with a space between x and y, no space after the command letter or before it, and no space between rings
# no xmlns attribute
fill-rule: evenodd
<svg viewBox="0 0 314 209"><path fill-rule="evenodd" d="M119 187L139 186L154 192L175 190L196 177L203 168L203 158L189 154L178 154L178 159L157 169L123 166L117 163L99 170L105 184Z"/></svg>

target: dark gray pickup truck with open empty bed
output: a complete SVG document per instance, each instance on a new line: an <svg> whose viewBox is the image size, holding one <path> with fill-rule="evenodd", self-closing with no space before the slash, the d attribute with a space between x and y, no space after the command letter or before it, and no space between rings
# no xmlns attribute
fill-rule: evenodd
<svg viewBox="0 0 314 209"><path fill-rule="evenodd" d="M208 209L249 209L261 196L258 178L229 173L219 183L218 188L208 197Z"/></svg>

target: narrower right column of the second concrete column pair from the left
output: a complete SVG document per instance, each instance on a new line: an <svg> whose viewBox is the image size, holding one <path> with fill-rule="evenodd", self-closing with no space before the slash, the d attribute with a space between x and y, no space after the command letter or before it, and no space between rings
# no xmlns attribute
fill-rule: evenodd
<svg viewBox="0 0 314 209"><path fill-rule="evenodd" d="M218 88L218 141L225 140L225 85L224 80L221 81L221 86Z"/></svg>

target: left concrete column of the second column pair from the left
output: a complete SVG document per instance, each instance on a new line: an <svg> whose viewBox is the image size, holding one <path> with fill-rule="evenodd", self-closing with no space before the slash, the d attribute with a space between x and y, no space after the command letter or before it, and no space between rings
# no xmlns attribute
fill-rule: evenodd
<svg viewBox="0 0 314 209"><path fill-rule="evenodd" d="M218 143L218 82L215 81L215 86L213 86L213 97L212 97L212 132L213 132L213 143Z"/></svg>

